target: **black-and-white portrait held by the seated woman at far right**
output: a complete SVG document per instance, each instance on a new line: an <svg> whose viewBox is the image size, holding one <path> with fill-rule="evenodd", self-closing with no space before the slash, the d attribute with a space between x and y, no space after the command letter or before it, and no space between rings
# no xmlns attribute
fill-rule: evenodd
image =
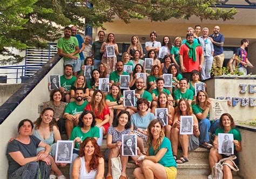
<svg viewBox="0 0 256 179"><path fill-rule="evenodd" d="M219 143L218 153L227 154L227 155L234 154L233 140L234 140L233 134L219 133L218 134L218 143Z"/></svg>

